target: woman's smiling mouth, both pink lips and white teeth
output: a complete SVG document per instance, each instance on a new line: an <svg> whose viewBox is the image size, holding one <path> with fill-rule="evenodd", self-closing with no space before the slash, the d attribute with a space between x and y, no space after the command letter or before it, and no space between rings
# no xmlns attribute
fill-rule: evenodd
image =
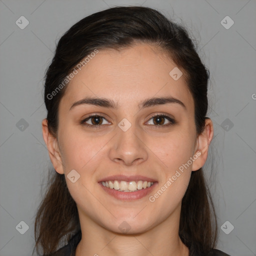
<svg viewBox="0 0 256 256"><path fill-rule="evenodd" d="M120 200L140 199L149 194L157 181L144 176L111 176L98 181L109 195Z"/></svg>

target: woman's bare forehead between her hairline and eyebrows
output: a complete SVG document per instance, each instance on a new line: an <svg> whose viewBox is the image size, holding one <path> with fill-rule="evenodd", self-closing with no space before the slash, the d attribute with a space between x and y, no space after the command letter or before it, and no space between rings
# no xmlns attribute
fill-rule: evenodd
<svg viewBox="0 0 256 256"><path fill-rule="evenodd" d="M85 96L112 98L126 106L143 98L172 96L187 108L193 105L184 75L174 80L169 73L177 66L152 45L99 50L87 60L66 87L60 102L65 108Z"/></svg>

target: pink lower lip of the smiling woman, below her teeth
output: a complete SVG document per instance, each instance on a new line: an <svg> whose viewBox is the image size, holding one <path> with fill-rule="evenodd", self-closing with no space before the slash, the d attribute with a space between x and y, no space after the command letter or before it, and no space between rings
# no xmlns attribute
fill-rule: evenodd
<svg viewBox="0 0 256 256"><path fill-rule="evenodd" d="M106 186L103 186L101 182L98 182L98 183L108 194L112 195L116 199L129 201L129 200L137 200L148 195L152 191L152 189L154 189L157 182L154 182L151 186L147 188L142 188L133 192L118 191L118 190L115 190L114 188L108 188Z"/></svg>

